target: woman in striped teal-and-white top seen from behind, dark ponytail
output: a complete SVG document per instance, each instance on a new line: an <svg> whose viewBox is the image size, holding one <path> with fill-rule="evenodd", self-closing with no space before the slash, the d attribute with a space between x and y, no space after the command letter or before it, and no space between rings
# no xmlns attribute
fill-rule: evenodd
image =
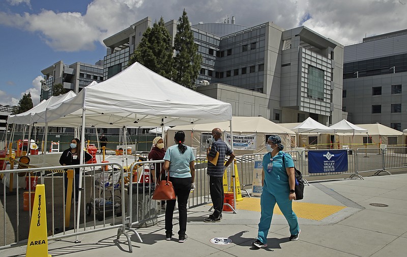
<svg viewBox="0 0 407 257"><path fill-rule="evenodd" d="M168 170L169 181L175 189L178 199L178 210L180 217L180 230L178 231L178 242L183 243L188 239L187 231L187 203L191 189L195 189L195 156L192 148L184 145L185 133L178 131L175 133L176 145L167 149L164 156L163 170ZM172 239L172 216L175 209L176 200L167 201L165 209L165 238Z"/></svg>

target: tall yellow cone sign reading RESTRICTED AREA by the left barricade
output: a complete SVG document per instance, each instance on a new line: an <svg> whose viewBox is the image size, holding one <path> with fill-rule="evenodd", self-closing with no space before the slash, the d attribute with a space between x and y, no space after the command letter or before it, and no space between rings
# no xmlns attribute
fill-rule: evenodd
<svg viewBox="0 0 407 257"><path fill-rule="evenodd" d="M45 206L45 185L37 185L30 233L28 234L26 257L51 257L48 254L47 210Z"/></svg>

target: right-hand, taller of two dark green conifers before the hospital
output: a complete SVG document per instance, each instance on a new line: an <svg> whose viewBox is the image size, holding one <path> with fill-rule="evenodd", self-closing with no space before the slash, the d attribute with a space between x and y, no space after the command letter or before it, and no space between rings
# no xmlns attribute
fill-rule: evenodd
<svg viewBox="0 0 407 257"><path fill-rule="evenodd" d="M198 45L194 43L194 34L185 9L178 21L177 35L174 40L176 74L173 76L173 81L195 90L195 80L199 74L202 56L197 53Z"/></svg>

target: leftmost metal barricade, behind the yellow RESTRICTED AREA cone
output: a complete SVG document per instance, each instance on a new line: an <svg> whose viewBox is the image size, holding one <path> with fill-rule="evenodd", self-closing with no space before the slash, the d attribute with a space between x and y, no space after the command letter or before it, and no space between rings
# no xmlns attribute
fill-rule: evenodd
<svg viewBox="0 0 407 257"><path fill-rule="evenodd" d="M127 237L129 250L131 241L129 235L125 232L125 194L124 194L124 173L123 167L119 163L105 163L111 169L105 169L101 163L70 165L70 166L51 166L40 168L1 170L3 178L3 195L0 204L3 205L3 212L0 214L0 222L3 219L3 233L0 234L0 249L9 248L26 243L30 228L32 199L32 180L34 174L41 176L42 184L45 185L46 209L47 211L47 230L48 240L58 240L67 237L78 236L82 234L94 233L104 230L118 229L119 236L124 234ZM80 191L79 203L76 206L73 202L71 206L66 206L65 202L65 179L64 169L84 168L82 173L82 186ZM24 198L21 191L25 177L19 177L18 174L26 173L27 181L25 186L28 190L28 199ZM15 185L6 191L6 178L13 174ZM32 175L33 174L33 175ZM21 179L22 178L22 179ZM73 175L75 178L75 175ZM76 197L75 188L77 181L73 179L73 199ZM10 184L9 184L10 185ZM78 195L78 196L79 196ZM23 199L24 198L24 199ZM25 204L25 207L23 207ZM28 212L24 211L28 209ZM49 211L51 210L51 211ZM93 211L93 215L92 215ZM80 215L78 215L78 213ZM67 215L70 215L68 219ZM117 215L117 217L115 217ZM120 217L121 216L121 217ZM79 218L79 222L77 221ZM138 236L138 234L137 234ZM3 237L3 238L2 238ZM76 238L77 241L77 238Z"/></svg>

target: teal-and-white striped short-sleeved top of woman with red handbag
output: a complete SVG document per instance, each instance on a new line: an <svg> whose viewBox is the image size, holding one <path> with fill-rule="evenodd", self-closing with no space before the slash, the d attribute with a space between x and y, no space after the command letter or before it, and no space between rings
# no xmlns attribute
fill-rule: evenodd
<svg viewBox="0 0 407 257"><path fill-rule="evenodd" d="M173 178L190 178L189 163L195 160L192 148L186 146L185 153L181 153L178 145L170 146L164 155L164 160L169 161L169 176Z"/></svg>

